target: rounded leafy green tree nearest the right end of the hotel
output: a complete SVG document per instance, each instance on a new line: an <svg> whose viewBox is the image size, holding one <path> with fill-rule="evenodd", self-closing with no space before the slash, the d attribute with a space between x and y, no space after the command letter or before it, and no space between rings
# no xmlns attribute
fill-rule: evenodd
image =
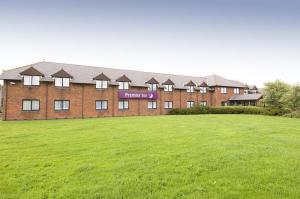
<svg viewBox="0 0 300 199"><path fill-rule="evenodd" d="M274 108L287 107L287 94L290 91L290 86L280 80L265 83L264 88L264 103L266 106Z"/></svg>

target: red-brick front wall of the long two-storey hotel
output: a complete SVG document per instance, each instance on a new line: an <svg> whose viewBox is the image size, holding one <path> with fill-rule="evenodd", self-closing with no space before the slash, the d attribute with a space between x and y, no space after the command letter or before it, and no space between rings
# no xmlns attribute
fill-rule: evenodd
<svg viewBox="0 0 300 199"><path fill-rule="evenodd" d="M158 89L156 109L148 109L148 100L129 99L129 109L118 108L118 87L109 86L108 89L96 89L94 84L72 84L69 88L55 87L53 82L40 82L40 86L24 86L21 81L4 81L4 120L24 119L59 119L59 118L92 118L109 116L138 116L167 114L165 101L172 101L173 108L186 108L187 101L199 103L206 101L209 106L221 106L222 101L228 101L233 95L233 88L227 88L227 94L221 94L218 87L215 92L208 91L201 94L198 90L187 93L186 90L173 89L165 92ZM131 87L130 91L147 91L144 87ZM243 90L240 89L240 93ZM40 100L39 111L22 111L23 99ZM55 111L54 100L70 100L69 111ZM107 110L96 110L96 100L107 100Z"/></svg>

